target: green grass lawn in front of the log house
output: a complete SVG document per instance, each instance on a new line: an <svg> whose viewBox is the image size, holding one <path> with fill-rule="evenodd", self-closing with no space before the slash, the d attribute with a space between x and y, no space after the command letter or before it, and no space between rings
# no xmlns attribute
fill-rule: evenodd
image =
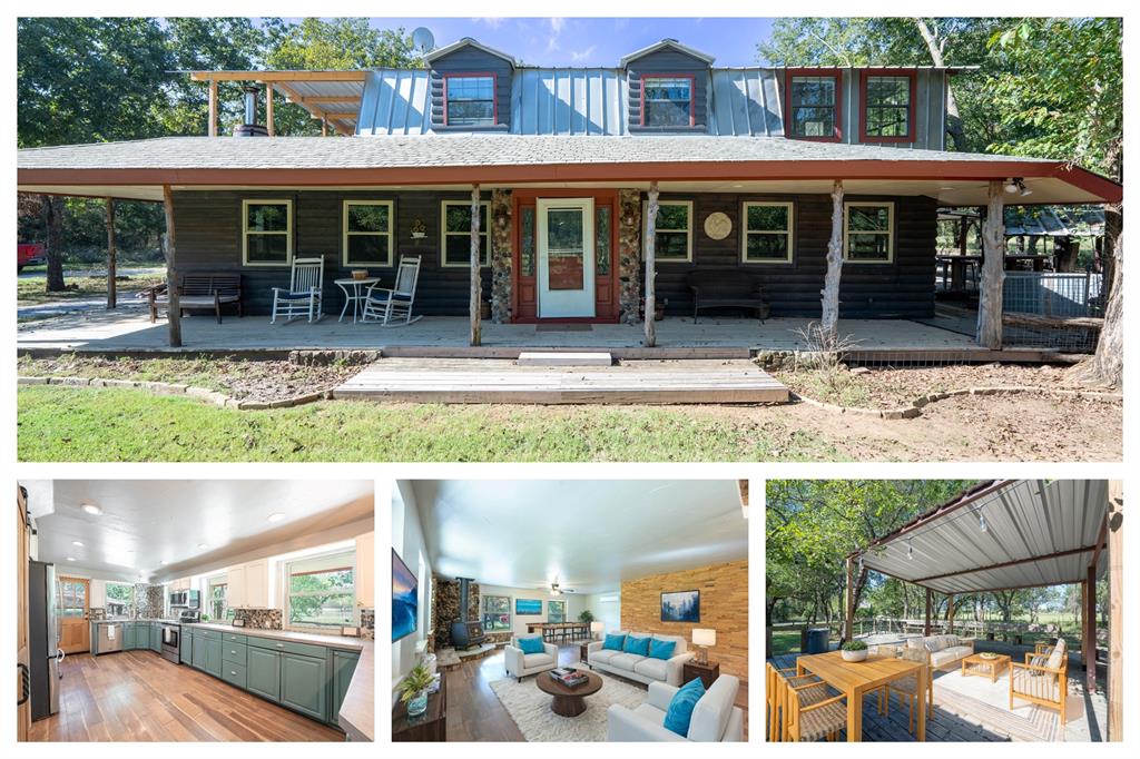
<svg viewBox="0 0 1140 759"><path fill-rule="evenodd" d="M26 462L834 460L782 423L690 408L323 401L238 411L124 389L18 391Z"/></svg>

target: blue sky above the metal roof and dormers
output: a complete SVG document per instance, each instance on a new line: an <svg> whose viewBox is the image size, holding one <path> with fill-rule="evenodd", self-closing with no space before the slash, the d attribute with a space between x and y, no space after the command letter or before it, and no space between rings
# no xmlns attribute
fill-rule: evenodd
<svg viewBox="0 0 1140 759"><path fill-rule="evenodd" d="M771 18L373 18L377 28L426 26L437 46L473 36L538 66L617 66L663 38L716 56L717 66L757 64Z"/></svg>

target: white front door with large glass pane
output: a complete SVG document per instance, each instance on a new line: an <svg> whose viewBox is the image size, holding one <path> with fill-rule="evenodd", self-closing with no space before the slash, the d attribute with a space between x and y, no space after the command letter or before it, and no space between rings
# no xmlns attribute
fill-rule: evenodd
<svg viewBox="0 0 1140 759"><path fill-rule="evenodd" d="M539 199L538 316L593 317L594 198Z"/></svg>

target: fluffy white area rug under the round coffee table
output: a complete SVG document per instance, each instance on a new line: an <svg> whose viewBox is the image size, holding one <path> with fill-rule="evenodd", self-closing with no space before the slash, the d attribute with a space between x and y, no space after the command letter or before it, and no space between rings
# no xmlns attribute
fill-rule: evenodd
<svg viewBox="0 0 1140 759"><path fill-rule="evenodd" d="M577 717L560 717L551 711L551 696L538 689L535 677L549 677L546 672L523 678L513 677L491 683L491 691L514 719L528 741L588 742L605 740L605 712L611 703L634 709L649 697L645 688L622 683L601 672L602 689L586 696L586 711Z"/></svg>

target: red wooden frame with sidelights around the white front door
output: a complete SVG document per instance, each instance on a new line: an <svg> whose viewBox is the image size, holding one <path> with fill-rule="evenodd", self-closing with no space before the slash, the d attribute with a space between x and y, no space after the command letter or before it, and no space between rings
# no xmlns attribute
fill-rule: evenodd
<svg viewBox="0 0 1140 759"><path fill-rule="evenodd" d="M529 279L535 280L535 316L521 317L520 312L520 293L522 287L522 274L520 263L522 261L522 207L523 206L536 206L539 198L556 198L556 197L588 197L594 199L594 213L597 213L597 207L600 205L610 206L610 274L608 276L610 291L610 302L603 303L598 301L598 276L594 272L594 312L593 317L560 317L553 319L543 319L537 316L538 313L538 261L535 261L535 275L529 277ZM511 261L511 321L514 324L573 324L573 323L587 323L587 324L617 324L620 317L620 304L618 302L621 293L621 278L618 276L618 190L616 189L516 189L511 193L512 207L512 219L514 220L514 230L512 231L513 247L512 247L512 261ZM596 217L595 217L596 218ZM535 255L538 255L538 219L535 218ZM596 242L596 239L595 239ZM596 255L596 252L595 252ZM605 283L602 283L605 286ZM604 292L604 291L603 291ZM604 310L603 310L604 309Z"/></svg>

